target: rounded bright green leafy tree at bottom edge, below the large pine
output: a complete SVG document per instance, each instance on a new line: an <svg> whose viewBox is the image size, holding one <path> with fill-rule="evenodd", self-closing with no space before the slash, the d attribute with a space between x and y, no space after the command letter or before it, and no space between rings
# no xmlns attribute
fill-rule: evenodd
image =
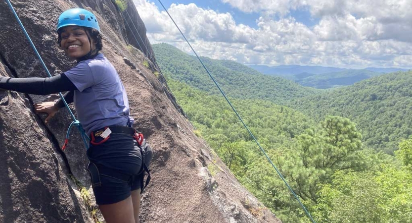
<svg viewBox="0 0 412 223"><path fill-rule="evenodd" d="M313 207L318 223L388 223L383 191L372 173L337 171L330 184L322 185Z"/></svg>

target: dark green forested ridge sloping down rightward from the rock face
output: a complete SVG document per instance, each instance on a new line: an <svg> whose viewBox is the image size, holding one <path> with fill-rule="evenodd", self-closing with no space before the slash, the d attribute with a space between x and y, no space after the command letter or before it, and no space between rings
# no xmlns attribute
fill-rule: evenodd
<svg viewBox="0 0 412 223"><path fill-rule="evenodd" d="M153 50L167 78L187 83L209 94L220 94L201 63L168 44L155 44ZM293 81L263 75L240 63L202 57L203 62L225 93L240 99L264 99L285 104L319 90L304 88Z"/></svg>

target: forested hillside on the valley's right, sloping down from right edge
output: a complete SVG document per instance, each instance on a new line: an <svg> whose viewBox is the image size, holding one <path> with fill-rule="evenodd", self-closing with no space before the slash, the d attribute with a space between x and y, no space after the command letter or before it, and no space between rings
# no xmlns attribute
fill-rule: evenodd
<svg viewBox="0 0 412 223"><path fill-rule="evenodd" d="M393 154L412 135L412 72L374 77L353 86L292 100L290 106L316 120L326 115L357 123L367 146Z"/></svg>

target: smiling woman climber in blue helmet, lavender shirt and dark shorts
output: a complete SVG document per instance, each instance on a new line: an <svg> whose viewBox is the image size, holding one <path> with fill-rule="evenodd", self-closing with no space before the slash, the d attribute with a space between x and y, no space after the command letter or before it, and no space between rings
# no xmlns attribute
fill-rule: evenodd
<svg viewBox="0 0 412 223"><path fill-rule="evenodd" d="M50 78L6 78L0 88L27 94L65 92L74 102L77 116L90 136L87 156L96 203L107 223L138 223L142 189L142 155L137 134L131 127L125 88L113 65L99 51L100 28L88 10L73 8L63 12L57 24L58 44L77 65ZM65 106L35 104L36 112L48 114L45 122Z"/></svg>

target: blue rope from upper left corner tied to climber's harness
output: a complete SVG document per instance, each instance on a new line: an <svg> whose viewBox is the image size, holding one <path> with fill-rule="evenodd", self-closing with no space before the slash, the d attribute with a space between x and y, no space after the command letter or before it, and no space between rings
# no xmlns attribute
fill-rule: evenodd
<svg viewBox="0 0 412 223"><path fill-rule="evenodd" d="M10 0L6 0L6 1L7 1L8 6L10 7L11 11L13 12L14 17L16 17L16 20L17 20L17 22L19 23L21 29L23 30L24 35L26 36L27 40L29 40L30 45L32 46L32 48L33 48L36 56L39 58L40 62L41 62L42 65L43 65L43 68L46 70L47 75L48 75L49 77L51 77L51 74L50 74L50 72L48 71L45 62L43 61L42 56L40 56L39 52L37 51L36 47L34 46L32 39L30 38L29 34L27 33L26 29L24 28L23 23L21 23L19 16L17 15L16 11L14 10L13 5L11 5ZM77 128L79 129L79 131L80 131L80 133L81 133L81 135L82 135L83 142L85 143L86 149L89 149L89 143L88 143L88 142L89 142L89 137L86 135L86 132L85 132L85 130L83 129L82 125L81 125L80 122L76 119L76 117L74 116L73 112L70 110L69 105L67 105L67 102L66 102L66 100L64 100L63 95L62 95L60 92L59 92L59 95L60 95L60 98L61 98L61 100L63 101L64 105L66 106L67 111L69 111L70 116L72 116L72 118L73 118L73 120L74 120L74 121L70 124L69 129L67 130L67 137L66 137L66 141L65 141L65 144L64 144L62 150L64 150L65 146L67 145L68 136L70 135L70 130L71 130L71 127L72 127L73 125L76 125Z"/></svg>

